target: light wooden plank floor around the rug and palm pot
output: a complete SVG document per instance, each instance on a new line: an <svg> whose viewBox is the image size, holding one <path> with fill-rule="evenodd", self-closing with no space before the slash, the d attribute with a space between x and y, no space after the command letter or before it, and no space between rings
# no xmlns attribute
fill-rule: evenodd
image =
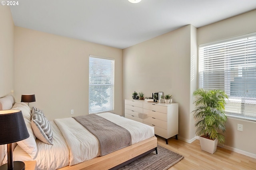
<svg viewBox="0 0 256 170"><path fill-rule="evenodd" d="M199 140L192 143L158 137L158 145L182 154L184 158L168 170L256 170L256 159L217 147L214 154L202 151Z"/></svg>

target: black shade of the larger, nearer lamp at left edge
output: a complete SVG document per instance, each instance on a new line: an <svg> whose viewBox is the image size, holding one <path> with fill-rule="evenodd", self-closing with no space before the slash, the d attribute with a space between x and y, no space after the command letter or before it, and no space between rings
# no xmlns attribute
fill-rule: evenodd
<svg viewBox="0 0 256 170"><path fill-rule="evenodd" d="M9 144L29 137L20 110L0 110L0 145Z"/></svg>

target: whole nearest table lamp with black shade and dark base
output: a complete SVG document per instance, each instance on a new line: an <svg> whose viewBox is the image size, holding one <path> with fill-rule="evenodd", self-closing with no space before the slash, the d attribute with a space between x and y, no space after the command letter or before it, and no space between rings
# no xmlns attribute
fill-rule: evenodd
<svg viewBox="0 0 256 170"><path fill-rule="evenodd" d="M0 170L24 170L25 164L14 161L12 143L29 137L22 112L20 110L0 110L0 145L7 144L8 163L0 166Z"/></svg>

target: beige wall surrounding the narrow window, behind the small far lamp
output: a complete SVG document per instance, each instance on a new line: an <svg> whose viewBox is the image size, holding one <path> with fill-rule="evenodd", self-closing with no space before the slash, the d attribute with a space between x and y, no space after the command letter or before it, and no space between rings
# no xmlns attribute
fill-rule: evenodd
<svg viewBox="0 0 256 170"><path fill-rule="evenodd" d="M89 55L115 59L113 113L122 113L122 50L15 27L15 98L35 94L48 119L88 114ZM74 109L74 114L70 110Z"/></svg>

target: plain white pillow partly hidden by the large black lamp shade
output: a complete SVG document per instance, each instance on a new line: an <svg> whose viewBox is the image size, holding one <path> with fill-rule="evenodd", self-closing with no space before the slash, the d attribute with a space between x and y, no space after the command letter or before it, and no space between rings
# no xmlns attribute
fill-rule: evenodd
<svg viewBox="0 0 256 170"><path fill-rule="evenodd" d="M27 139L24 139L22 141L18 141L17 144L24 150L26 151L32 159L35 158L36 153L37 153L37 147L36 147L36 137L34 136L32 127L31 127L31 121L28 119L24 119L29 137Z"/></svg>

